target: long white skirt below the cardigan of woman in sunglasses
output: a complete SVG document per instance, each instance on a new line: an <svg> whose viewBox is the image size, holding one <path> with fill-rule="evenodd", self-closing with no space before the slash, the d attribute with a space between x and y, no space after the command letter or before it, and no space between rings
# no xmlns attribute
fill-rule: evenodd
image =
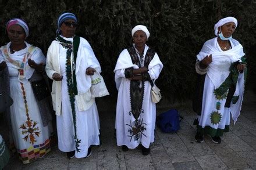
<svg viewBox="0 0 256 170"><path fill-rule="evenodd" d="M76 107L76 125L73 123L73 115L67 91L66 74L62 74L62 114L57 115L58 147L59 150L69 152L76 150L74 140L74 128L76 128L77 140L80 140L79 151L76 150L76 158L87 156L88 147L99 145L99 116L94 102L86 111L79 111Z"/></svg>

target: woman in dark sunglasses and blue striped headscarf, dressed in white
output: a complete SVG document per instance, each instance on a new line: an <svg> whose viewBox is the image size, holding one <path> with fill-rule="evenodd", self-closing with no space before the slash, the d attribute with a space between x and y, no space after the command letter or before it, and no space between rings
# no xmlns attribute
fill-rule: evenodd
<svg viewBox="0 0 256 170"><path fill-rule="evenodd" d="M99 117L90 93L90 75L101 67L86 39L74 34L77 26L73 13L59 16L58 36L49 46L45 67L54 80L51 95L58 147L69 158L88 157L90 146L99 145Z"/></svg>

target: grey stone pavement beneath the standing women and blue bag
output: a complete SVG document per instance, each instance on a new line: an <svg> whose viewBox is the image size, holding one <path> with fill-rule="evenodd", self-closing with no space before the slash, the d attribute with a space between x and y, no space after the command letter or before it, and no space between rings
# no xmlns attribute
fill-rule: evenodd
<svg viewBox="0 0 256 170"><path fill-rule="evenodd" d="M177 106L184 120L177 133L156 130L151 154L141 149L123 152L113 137L115 111L100 111L102 145L94 146L88 158L66 158L55 147L45 157L23 165L13 155L5 169L256 169L256 96L247 91L239 120L230 126L221 144L212 143L206 136L204 143L194 140L195 114L190 104ZM170 108L170 107L169 107ZM158 108L158 114L168 108Z"/></svg>

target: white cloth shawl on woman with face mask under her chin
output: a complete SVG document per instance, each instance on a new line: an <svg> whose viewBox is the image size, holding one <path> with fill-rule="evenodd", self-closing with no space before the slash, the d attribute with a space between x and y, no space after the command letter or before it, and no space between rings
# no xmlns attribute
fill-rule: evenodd
<svg viewBox="0 0 256 170"><path fill-rule="evenodd" d="M217 41L218 37L205 42L200 53L197 55L198 60L204 59L205 56L212 55L212 63L209 64L207 75L214 84L215 89L219 88L225 79L229 76L229 67L233 62L241 62L241 57L245 55L243 46L235 39L231 39L232 49L222 51Z"/></svg>

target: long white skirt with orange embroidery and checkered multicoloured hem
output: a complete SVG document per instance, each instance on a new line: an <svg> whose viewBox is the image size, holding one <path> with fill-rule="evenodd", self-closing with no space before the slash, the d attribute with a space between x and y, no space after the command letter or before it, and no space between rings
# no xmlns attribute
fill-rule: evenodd
<svg viewBox="0 0 256 170"><path fill-rule="evenodd" d="M42 125L40 111L30 82L21 84L17 79L17 70L9 68L10 107L13 140L20 159L27 164L48 153L52 127ZM27 108L27 109L26 109Z"/></svg>

